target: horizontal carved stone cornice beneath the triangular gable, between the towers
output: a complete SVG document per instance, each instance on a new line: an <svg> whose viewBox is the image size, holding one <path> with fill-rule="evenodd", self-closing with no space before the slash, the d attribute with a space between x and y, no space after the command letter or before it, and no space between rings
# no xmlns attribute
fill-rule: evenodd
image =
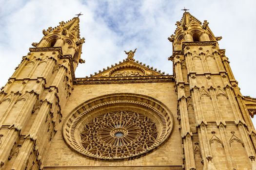
<svg viewBox="0 0 256 170"><path fill-rule="evenodd" d="M75 85L174 82L173 75L76 78Z"/></svg>

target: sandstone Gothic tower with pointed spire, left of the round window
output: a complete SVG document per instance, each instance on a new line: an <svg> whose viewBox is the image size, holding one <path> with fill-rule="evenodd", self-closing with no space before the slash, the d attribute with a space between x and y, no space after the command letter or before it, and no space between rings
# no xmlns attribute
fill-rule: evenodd
<svg viewBox="0 0 256 170"><path fill-rule="evenodd" d="M41 169L41 155L62 120L84 38L79 17L43 30L39 43L0 91L0 169Z"/></svg>

